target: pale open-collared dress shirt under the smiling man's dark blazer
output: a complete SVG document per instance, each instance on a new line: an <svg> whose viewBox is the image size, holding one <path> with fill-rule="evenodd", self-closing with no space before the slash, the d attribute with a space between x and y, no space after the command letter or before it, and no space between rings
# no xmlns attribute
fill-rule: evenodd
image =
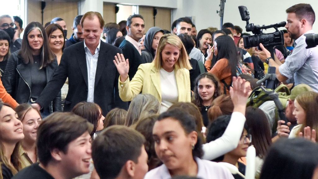
<svg viewBox="0 0 318 179"><path fill-rule="evenodd" d="M95 49L95 54L93 55L91 51L89 51L88 47L85 44L85 54L86 54L86 66L87 66L87 83L88 83L88 94L87 94L87 102L94 102L94 88L95 88L95 75L97 68L97 61L100 49L100 42Z"/></svg>

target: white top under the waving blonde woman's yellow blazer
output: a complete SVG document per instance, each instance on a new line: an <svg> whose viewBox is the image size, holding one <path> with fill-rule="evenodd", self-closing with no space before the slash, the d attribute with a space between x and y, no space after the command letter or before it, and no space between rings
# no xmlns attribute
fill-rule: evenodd
<svg viewBox="0 0 318 179"><path fill-rule="evenodd" d="M160 68L160 86L161 86L161 107L160 113L167 111L168 108L178 102L178 88L176 82L175 70L167 72Z"/></svg>

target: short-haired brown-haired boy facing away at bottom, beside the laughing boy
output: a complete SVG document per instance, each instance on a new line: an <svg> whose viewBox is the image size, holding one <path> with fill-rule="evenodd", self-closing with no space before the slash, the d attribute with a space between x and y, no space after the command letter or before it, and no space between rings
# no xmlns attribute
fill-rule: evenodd
<svg viewBox="0 0 318 179"><path fill-rule="evenodd" d="M93 141L92 157L102 179L143 179L148 172L144 136L126 126L113 125Z"/></svg>

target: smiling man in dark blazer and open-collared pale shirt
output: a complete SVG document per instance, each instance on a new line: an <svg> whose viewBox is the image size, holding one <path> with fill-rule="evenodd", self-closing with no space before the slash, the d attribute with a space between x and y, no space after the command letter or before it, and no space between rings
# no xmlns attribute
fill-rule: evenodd
<svg viewBox="0 0 318 179"><path fill-rule="evenodd" d="M33 105L47 106L68 77L64 111L72 110L81 101L100 105L104 115L114 107L127 109L128 104L122 102L118 94L119 73L113 63L121 49L100 40L104 26L100 13L87 12L81 26L84 41L64 50L57 71Z"/></svg>

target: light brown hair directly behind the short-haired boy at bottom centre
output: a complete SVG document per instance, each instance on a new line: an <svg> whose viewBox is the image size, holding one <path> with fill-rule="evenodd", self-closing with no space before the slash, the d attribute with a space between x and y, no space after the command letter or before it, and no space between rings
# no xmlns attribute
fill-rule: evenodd
<svg viewBox="0 0 318 179"><path fill-rule="evenodd" d="M125 125L127 111L120 108L110 110L105 116L104 129L111 125Z"/></svg>

